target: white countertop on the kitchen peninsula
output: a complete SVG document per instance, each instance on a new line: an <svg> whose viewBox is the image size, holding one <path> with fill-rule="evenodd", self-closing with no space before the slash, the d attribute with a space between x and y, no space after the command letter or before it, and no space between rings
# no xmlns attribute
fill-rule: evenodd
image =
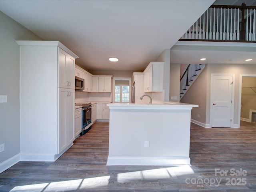
<svg viewBox="0 0 256 192"><path fill-rule="evenodd" d="M152 104L136 104L136 103L109 103L107 104L110 109L192 109L193 107L198 107L195 104L187 104L180 102L162 102L162 103L152 103Z"/></svg>

